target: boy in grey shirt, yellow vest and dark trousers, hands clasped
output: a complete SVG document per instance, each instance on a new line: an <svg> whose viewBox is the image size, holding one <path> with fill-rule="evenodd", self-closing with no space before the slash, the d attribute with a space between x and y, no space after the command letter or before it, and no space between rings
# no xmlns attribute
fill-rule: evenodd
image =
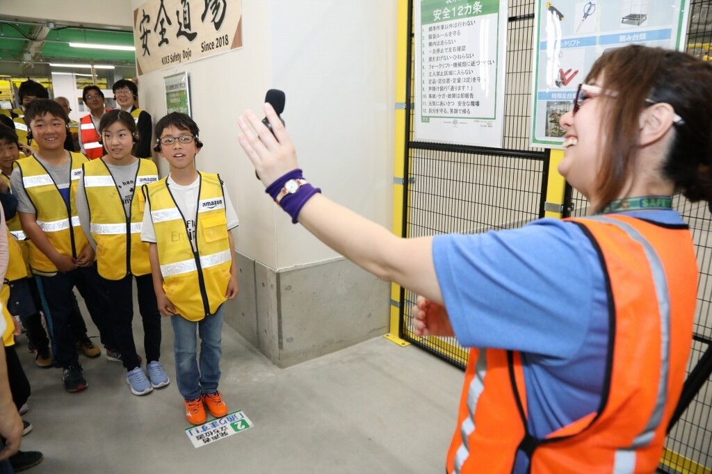
<svg viewBox="0 0 712 474"><path fill-rule="evenodd" d="M64 369L66 391L75 392L85 389L87 382L70 324L74 287L84 297L103 342L108 342L104 312L109 302L75 206L81 167L88 159L63 148L68 117L57 102L34 100L25 110L25 120L39 149L16 162L11 187L19 201L22 230L30 238L30 268L46 303L56 364Z"/></svg>

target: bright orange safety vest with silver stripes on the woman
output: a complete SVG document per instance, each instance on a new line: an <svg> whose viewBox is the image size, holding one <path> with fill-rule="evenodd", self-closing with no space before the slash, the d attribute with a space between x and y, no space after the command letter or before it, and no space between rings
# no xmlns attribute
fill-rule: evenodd
<svg viewBox="0 0 712 474"><path fill-rule="evenodd" d="M612 214L571 221L600 254L609 289L600 406L534 438L520 354L471 349L448 473L511 473L518 451L534 474L656 470L691 347L698 277L691 233Z"/></svg>

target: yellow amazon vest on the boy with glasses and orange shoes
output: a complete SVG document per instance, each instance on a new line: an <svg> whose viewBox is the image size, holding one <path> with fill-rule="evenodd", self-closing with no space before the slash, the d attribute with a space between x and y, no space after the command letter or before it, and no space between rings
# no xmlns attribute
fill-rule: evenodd
<svg viewBox="0 0 712 474"><path fill-rule="evenodd" d="M163 290L177 314L189 321L214 314L226 300L232 263L220 177L200 172L199 179L195 252L166 178L143 187L151 207Z"/></svg>

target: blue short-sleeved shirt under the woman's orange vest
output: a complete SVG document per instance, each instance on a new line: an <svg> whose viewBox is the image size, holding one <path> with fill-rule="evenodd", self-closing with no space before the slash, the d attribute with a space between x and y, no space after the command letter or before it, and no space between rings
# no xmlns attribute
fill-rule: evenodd
<svg viewBox="0 0 712 474"><path fill-rule="evenodd" d="M672 210L626 216L684 225ZM436 236L435 270L465 347L522 352L529 431L536 438L597 411L608 345L600 258L575 223Z"/></svg>

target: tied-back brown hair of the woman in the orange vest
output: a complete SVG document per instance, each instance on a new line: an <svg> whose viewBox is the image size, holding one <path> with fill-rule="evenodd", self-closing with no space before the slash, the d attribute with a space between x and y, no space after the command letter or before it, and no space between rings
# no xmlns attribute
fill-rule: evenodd
<svg viewBox="0 0 712 474"><path fill-rule="evenodd" d="M679 51L630 45L598 58L586 82L601 76L617 95L602 96L604 159L595 184L600 207L623 191L637 157L638 117L654 102L668 103L684 120L674 124L661 173L687 199L712 200L712 64Z"/></svg>

